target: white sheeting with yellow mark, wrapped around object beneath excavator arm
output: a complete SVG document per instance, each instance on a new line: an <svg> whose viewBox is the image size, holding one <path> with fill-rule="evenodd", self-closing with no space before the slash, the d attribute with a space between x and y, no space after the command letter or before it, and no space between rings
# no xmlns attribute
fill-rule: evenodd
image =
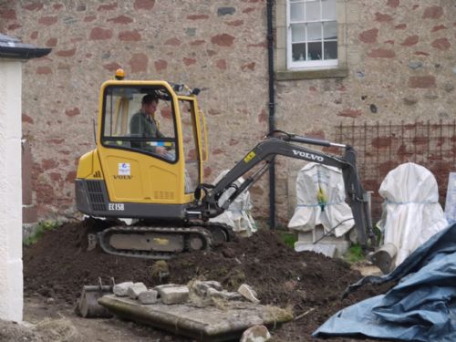
<svg viewBox="0 0 456 342"><path fill-rule="evenodd" d="M335 167L310 162L296 178L296 209L288 228L312 231L322 224L325 233L337 237L347 233L355 224L353 214L345 202L342 171Z"/></svg>

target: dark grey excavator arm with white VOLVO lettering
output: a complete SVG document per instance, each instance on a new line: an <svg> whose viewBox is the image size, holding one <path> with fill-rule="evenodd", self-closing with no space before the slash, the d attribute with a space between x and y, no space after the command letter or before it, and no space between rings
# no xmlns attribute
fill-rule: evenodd
<svg viewBox="0 0 456 342"><path fill-rule="evenodd" d="M324 147L344 148L343 156L333 156L318 150L307 149L296 143ZM358 241L366 250L368 239L375 245L375 234L372 230L372 221L369 212L368 193L363 189L358 177L356 164L356 152L349 145L337 144L327 140L317 140L306 138L281 130L270 132L264 140L260 141L253 150L250 150L244 158L239 161L222 180L214 185L201 184L195 192L197 204L189 208L188 214L198 215L203 220L218 216L246 189L251 187L255 181L267 171L268 165L274 160L276 155L295 158L303 161L313 161L320 164L334 166L342 171L347 202L353 212L353 218L358 233ZM263 162L264 165L249 176L240 186L235 181L251 171L256 165ZM219 199L224 192L234 189L234 192L223 203ZM204 192L204 196L202 196Z"/></svg>

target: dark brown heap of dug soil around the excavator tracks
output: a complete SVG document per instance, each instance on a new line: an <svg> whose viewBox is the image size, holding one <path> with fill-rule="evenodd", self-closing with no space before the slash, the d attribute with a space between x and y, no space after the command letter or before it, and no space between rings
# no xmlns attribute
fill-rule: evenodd
<svg viewBox="0 0 456 342"><path fill-rule="evenodd" d="M82 286L98 284L98 277L105 284L114 278L116 283L134 281L148 286L217 280L230 291L245 283L254 287L262 304L281 306L300 316L273 331L275 340L293 342L311 340L310 334L339 309L390 287L363 286L342 299L347 285L361 277L358 271L322 254L295 253L269 230L214 246L210 252L181 254L167 261L170 275L160 279L153 272L153 260L104 254L99 248L87 251L87 233L104 228L103 224L108 223L65 223L26 247L25 295L73 305Z"/></svg>

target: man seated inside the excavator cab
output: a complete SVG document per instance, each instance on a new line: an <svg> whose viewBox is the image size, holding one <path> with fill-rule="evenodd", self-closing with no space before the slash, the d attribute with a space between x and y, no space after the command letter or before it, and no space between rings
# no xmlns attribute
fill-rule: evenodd
<svg viewBox="0 0 456 342"><path fill-rule="evenodd" d="M165 138L159 130L155 119L155 111L159 105L159 98L156 94L147 94L141 100L141 109L130 119L130 133L133 136L146 138ZM167 157L167 150L164 146L151 147L147 143L140 142L138 146L142 150L150 150L161 157Z"/></svg>

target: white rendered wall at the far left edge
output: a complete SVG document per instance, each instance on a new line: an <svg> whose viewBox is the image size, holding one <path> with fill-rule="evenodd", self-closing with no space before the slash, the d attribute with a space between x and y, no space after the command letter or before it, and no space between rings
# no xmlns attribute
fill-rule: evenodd
<svg viewBox="0 0 456 342"><path fill-rule="evenodd" d="M22 321L22 62L0 59L0 318Z"/></svg>

